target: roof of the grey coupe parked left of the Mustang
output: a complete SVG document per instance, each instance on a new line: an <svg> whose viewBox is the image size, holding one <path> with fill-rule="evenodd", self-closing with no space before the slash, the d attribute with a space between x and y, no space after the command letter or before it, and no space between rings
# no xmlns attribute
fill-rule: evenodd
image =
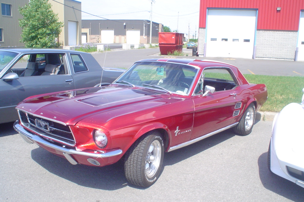
<svg viewBox="0 0 304 202"><path fill-rule="evenodd" d="M66 49L55 49L55 48L1 48L0 51L10 51L17 53L75 53L85 54L85 52L66 50Z"/></svg>

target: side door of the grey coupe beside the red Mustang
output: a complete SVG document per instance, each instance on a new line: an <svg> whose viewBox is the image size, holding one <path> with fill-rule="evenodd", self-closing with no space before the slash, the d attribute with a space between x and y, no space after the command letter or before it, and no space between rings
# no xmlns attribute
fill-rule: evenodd
<svg viewBox="0 0 304 202"><path fill-rule="evenodd" d="M25 55L7 73L11 73L13 70L13 72L20 73L20 71L15 69L25 68L26 64L29 63L28 59L24 59L24 57ZM26 56L26 58L29 58L29 56ZM39 74L43 74L43 72ZM0 123L5 123L18 119L15 107L23 99L43 93L71 90L74 89L74 82L68 72L57 75L29 75L10 80L1 78L0 89Z"/></svg>

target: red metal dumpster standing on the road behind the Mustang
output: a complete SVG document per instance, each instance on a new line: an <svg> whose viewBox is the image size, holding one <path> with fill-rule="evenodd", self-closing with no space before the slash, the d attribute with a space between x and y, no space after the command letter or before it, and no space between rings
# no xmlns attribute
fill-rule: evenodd
<svg viewBox="0 0 304 202"><path fill-rule="evenodd" d="M168 55L176 51L183 50L184 34L176 32L160 32L158 33L158 43L161 55Z"/></svg>

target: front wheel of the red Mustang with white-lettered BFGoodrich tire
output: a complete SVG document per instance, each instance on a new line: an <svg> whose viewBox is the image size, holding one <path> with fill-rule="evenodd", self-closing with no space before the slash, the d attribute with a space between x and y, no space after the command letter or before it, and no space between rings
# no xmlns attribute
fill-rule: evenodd
<svg viewBox="0 0 304 202"><path fill-rule="evenodd" d="M125 154L126 179L137 186L151 186L159 176L163 158L164 141L161 134L148 132L136 140Z"/></svg>

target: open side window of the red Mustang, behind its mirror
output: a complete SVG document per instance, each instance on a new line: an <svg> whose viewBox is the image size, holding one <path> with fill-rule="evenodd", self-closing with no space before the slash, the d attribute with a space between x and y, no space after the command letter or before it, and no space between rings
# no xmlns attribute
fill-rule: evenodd
<svg viewBox="0 0 304 202"><path fill-rule="evenodd" d="M215 88L215 92L231 90L237 86L234 76L227 68L208 68L203 71L203 91L206 85ZM197 94L201 89L201 84L195 89Z"/></svg>

